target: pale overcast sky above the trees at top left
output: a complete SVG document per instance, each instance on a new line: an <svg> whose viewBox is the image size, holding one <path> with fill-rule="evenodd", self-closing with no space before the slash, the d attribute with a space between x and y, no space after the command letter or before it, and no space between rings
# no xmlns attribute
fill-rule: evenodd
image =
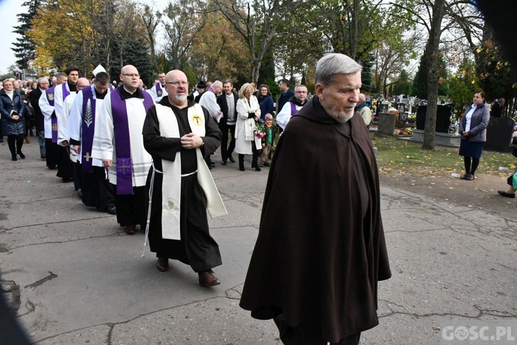
<svg viewBox="0 0 517 345"><path fill-rule="evenodd" d="M16 57L12 51L12 43L19 37L18 34L12 33L13 27L17 25L17 14L27 11L26 6L21 6L25 0L0 0L0 13L2 20L0 21L0 74L8 72L8 67L16 63ZM138 0L134 2L159 3L159 7L163 8L170 1L166 0ZM156 5L154 6L156 8Z"/></svg>

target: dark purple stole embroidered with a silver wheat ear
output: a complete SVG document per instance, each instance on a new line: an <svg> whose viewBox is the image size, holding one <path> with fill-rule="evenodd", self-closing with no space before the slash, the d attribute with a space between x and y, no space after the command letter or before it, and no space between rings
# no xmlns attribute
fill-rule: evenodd
<svg viewBox="0 0 517 345"><path fill-rule="evenodd" d="M82 135L81 135L81 153L85 153L81 157L81 167L84 172L93 172L92 166L92 144L93 134L95 129L95 106L97 101L93 97L94 91L92 87L83 88L83 121L82 121Z"/></svg>

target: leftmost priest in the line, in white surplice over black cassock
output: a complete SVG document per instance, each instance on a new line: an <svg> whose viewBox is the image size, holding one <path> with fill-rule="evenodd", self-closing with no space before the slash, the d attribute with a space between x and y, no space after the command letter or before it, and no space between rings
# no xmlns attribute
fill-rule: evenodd
<svg viewBox="0 0 517 345"><path fill-rule="evenodd" d="M63 72L56 76L56 86L65 83L68 77ZM45 132L45 161L49 169L57 166L57 117L54 112L54 90L56 86L41 92L39 97L39 108L43 114L43 129Z"/></svg>

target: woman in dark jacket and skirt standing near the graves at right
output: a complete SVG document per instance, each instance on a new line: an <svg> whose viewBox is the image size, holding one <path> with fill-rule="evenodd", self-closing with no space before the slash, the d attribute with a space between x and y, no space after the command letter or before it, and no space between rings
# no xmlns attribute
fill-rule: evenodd
<svg viewBox="0 0 517 345"><path fill-rule="evenodd" d="M485 104L485 92L476 92L472 105L465 110L460 121L460 156L465 161L465 175L461 179L472 181L487 141L487 126L490 112Z"/></svg>

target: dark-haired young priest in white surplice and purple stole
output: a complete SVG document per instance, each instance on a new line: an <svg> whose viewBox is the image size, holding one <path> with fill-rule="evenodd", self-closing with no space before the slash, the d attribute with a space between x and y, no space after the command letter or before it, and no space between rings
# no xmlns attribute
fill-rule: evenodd
<svg viewBox="0 0 517 345"><path fill-rule="evenodd" d="M57 146L57 177L61 177L63 182L72 181L74 177L74 170L72 161L70 161L70 148L68 148L68 141L65 145L59 145L59 130L66 126L66 119L64 113L65 99L70 95L70 92L77 92L77 81L79 80L79 68L76 66L69 66L65 70L68 76L68 81L62 83L54 88L54 111L56 112L57 134L54 135L54 123L52 123L52 143ZM56 138L54 138L57 136ZM76 186L77 189L77 186Z"/></svg>

